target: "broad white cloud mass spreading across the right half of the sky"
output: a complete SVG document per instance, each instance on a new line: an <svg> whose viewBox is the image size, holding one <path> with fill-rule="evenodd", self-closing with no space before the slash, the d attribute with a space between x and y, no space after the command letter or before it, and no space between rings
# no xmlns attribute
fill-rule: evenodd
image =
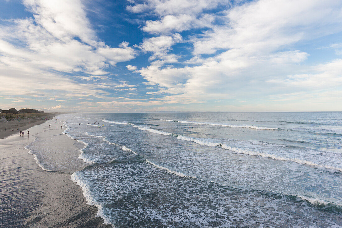
<svg viewBox="0 0 342 228"><path fill-rule="evenodd" d="M211 7L201 1L196 2L198 6L192 5L194 9L188 8L194 1L185 1L184 5L177 5L175 1L165 1L165 4L147 2L149 8L146 7L145 12L150 11L160 17L160 20L146 21L143 27L144 31L153 34L196 29L199 26L192 23L193 18L198 20L203 16L203 10ZM142 67L139 73L151 85L160 86L159 94L169 94L165 95L165 99L178 102L235 99L241 94L249 94L250 98L256 94L267 96L267 93L281 86L265 90L265 81L280 77L284 83L290 84L289 78L284 80L290 70L303 72L305 67L307 71L317 70L301 65L309 54L298 49L291 50L291 46L341 31L341 8L341 3L336 1L308 0L260 0L232 5L220 13L209 15L210 20L203 23L209 29L202 34L182 38L182 42L189 42L194 47L192 58L183 64L195 66L164 66L166 56L177 56L174 52L170 53L176 42L171 36L157 35L145 39L140 48L152 53L150 60L161 61ZM205 57L208 54L209 57ZM175 59L178 62L179 57ZM324 69L328 67L327 64L322 65ZM315 84L314 81L324 77L335 84L340 80L332 70L323 71L324 77L316 73L292 75L292 79L303 76L293 80L297 81L298 86ZM316 75L316 79L310 81L312 75ZM291 83L294 85L293 81ZM329 88L327 83L320 85L321 88ZM296 90L295 87L287 89Z"/></svg>

